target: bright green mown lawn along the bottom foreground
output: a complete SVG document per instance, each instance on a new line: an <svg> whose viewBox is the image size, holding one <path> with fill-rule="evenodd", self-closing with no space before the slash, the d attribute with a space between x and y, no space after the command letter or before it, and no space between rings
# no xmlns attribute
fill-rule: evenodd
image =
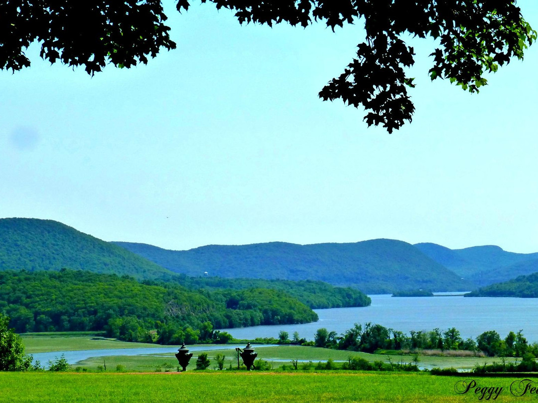
<svg viewBox="0 0 538 403"><path fill-rule="evenodd" d="M234 373L160 374L0 373L0 401L108 402L468 402L479 394L454 390L465 378L394 373ZM497 401L536 400L514 397L517 378L478 378L479 387L503 387Z"/></svg>

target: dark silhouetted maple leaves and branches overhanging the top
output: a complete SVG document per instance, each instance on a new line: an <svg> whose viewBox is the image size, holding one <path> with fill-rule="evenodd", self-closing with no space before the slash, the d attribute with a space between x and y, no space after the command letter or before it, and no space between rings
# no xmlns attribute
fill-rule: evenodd
<svg viewBox="0 0 538 403"><path fill-rule="evenodd" d="M206 3L207 0L202 0ZM362 19L365 39L357 58L319 93L323 100L342 99L363 106L368 126L382 124L389 133L412 121L414 105L407 93L414 64L408 34L437 40L429 74L450 79L470 92L486 85L495 72L523 51L537 33L523 19L516 0L209 0L217 9L235 12L239 23L272 26L313 22L332 30ZM178 0L178 11L189 9ZM130 67L147 63L161 48L176 44L165 25L160 0L8 0L0 3L0 68L30 65L24 50L41 44L41 57L54 63L85 66L89 74L111 63Z"/></svg>

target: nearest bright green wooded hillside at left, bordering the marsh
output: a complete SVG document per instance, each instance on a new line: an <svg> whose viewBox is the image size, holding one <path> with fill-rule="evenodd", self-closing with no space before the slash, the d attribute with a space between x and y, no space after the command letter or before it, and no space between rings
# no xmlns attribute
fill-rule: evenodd
<svg viewBox="0 0 538 403"><path fill-rule="evenodd" d="M174 344L209 341L211 326L317 321L314 311L278 290L197 292L69 269L0 272L0 312L18 332L106 330L126 341Z"/></svg>

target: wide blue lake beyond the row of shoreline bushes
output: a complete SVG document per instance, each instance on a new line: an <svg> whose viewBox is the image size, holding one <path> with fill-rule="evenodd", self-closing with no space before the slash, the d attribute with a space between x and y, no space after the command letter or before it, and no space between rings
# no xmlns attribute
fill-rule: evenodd
<svg viewBox="0 0 538 403"><path fill-rule="evenodd" d="M252 339L277 337L281 330L292 337L312 340L317 329L327 328L338 334L355 323L379 323L401 330L447 330L456 328L463 338L475 338L486 330L497 330L504 338L509 331L523 329L529 342L538 342L538 298L464 298L463 296L391 297L370 295L372 304L363 308L315 309L320 320L299 325L253 326L224 329L233 337Z"/></svg>

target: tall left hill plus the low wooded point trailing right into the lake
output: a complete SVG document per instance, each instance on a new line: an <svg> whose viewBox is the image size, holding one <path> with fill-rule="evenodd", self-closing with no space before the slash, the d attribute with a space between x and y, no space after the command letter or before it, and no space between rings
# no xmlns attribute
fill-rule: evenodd
<svg viewBox="0 0 538 403"><path fill-rule="evenodd" d="M139 280L165 280L188 289L229 295L232 290L267 288L283 291L310 308L357 307L370 304L358 290L322 282L193 279L170 272L124 248L83 234L56 221L0 219L0 268L58 271L83 269L94 273L129 275ZM228 289L228 290L224 290ZM212 295L214 295L213 293ZM126 296L127 297L127 296Z"/></svg>

